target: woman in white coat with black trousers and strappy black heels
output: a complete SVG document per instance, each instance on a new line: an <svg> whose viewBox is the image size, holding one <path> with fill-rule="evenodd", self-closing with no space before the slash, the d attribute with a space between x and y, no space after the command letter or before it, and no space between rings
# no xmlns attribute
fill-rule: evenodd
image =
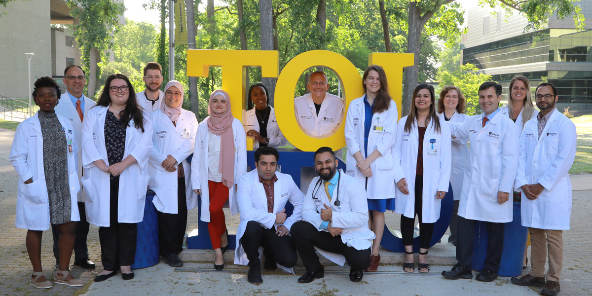
<svg viewBox="0 0 592 296"><path fill-rule="evenodd" d="M405 272L414 272L413 229L419 219L419 272L430 271L427 249L434 223L440 217L440 203L448 191L451 170L451 133L436 115L434 88L418 85L413 91L409 115L397 124L394 144L395 182L398 190L395 213L401 214L401 235L405 246ZM411 185L411 186L409 186Z"/></svg>

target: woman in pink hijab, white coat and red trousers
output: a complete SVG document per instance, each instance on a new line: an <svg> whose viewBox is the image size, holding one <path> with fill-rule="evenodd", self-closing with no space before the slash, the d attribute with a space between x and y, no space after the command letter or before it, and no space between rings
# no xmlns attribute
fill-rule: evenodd
<svg viewBox="0 0 592 296"><path fill-rule="evenodd" d="M201 196L201 221L208 222L214 268L224 268L228 231L222 207L229 201L230 213L239 213L237 181L247 170L246 137L242 123L232 116L230 96L222 90L210 95L210 116L200 123L191 162L192 189Z"/></svg>

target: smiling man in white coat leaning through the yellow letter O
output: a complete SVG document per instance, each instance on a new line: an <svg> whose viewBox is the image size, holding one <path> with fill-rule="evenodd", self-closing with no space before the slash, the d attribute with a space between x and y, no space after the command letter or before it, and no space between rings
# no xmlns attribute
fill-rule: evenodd
<svg viewBox="0 0 592 296"><path fill-rule="evenodd" d="M329 82L323 71L310 75L307 88L310 94L294 99L296 121L305 134L315 138L331 136L343 118L343 100L327 93Z"/></svg>

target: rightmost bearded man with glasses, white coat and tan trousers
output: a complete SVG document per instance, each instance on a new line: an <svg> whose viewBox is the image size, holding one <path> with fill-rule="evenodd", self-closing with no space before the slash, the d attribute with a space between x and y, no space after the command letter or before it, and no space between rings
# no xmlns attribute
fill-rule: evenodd
<svg viewBox="0 0 592 296"><path fill-rule="evenodd" d="M530 232L529 274L511 278L520 286L545 287L541 295L559 293L563 267L562 231L570 229L571 181L568 170L575 158L575 124L555 110L555 86L540 83L535 91L540 112L520 135L516 188L522 188L522 226ZM545 261L549 249L549 271Z"/></svg>

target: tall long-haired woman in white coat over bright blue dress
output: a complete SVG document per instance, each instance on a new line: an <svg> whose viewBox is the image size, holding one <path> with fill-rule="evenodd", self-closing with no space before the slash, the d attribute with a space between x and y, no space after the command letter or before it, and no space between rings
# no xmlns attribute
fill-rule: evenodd
<svg viewBox="0 0 592 296"><path fill-rule="evenodd" d="M368 197L370 230L376 238L372 243L370 266L378 269L378 249L384 231L384 213L395 209L392 141L397 130L397 104L388 94L387 76L381 66L372 65L362 78L365 95L354 99L345 121L345 141L348 145L346 173L357 178Z"/></svg>

